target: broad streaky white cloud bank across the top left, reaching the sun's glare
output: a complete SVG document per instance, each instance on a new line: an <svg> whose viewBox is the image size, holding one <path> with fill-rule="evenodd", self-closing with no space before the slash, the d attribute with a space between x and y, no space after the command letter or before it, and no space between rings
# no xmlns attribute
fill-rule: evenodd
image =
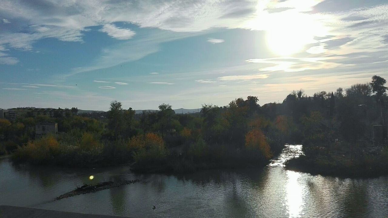
<svg viewBox="0 0 388 218"><path fill-rule="evenodd" d="M213 27L238 28L244 21L251 19L257 2L62 0L42 3L39 7L33 4L14 0L2 4L2 11L7 12L7 18L22 20L20 23L23 24L15 22L16 32L3 33L0 45L32 49L32 44L42 38L82 42L83 32L88 31L90 26L102 26L101 31L113 38L131 38L134 32L116 27L113 23L117 22L175 32L199 32ZM21 29L18 25L23 27L23 32L17 31Z"/></svg>

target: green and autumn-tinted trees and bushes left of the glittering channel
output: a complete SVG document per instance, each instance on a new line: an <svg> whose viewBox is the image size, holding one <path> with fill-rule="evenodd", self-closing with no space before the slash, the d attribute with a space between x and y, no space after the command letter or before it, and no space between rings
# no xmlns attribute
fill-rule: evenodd
<svg viewBox="0 0 388 218"><path fill-rule="evenodd" d="M131 164L139 172L264 166L293 131L288 117L266 117L254 96L223 107L204 105L194 114L175 114L171 105L162 104L157 112L136 115L132 108L124 110L120 102L112 101L106 119L76 115L25 119L31 124L57 122L61 131L36 138L29 137L28 127L18 134L3 131L3 141L21 143L13 149L15 162L70 167ZM24 119L10 126L17 123L24 125Z"/></svg>

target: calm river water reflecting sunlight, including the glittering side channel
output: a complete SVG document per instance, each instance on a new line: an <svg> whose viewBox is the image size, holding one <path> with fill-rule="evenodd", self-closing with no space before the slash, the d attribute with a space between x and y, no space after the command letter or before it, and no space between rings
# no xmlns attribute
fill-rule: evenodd
<svg viewBox="0 0 388 218"><path fill-rule="evenodd" d="M343 179L284 170L284 160L300 148L286 146L263 169L182 175L136 175L128 167L13 166L3 158L0 205L133 217L388 217L387 176ZM142 182L52 201L89 183L90 175L94 183Z"/></svg>

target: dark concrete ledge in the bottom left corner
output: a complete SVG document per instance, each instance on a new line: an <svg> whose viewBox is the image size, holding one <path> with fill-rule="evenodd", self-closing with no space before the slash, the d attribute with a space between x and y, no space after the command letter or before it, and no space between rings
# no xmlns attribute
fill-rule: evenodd
<svg viewBox="0 0 388 218"><path fill-rule="evenodd" d="M123 218L123 216L106 216L84 213L51 211L36 208L0 206L0 218Z"/></svg>

